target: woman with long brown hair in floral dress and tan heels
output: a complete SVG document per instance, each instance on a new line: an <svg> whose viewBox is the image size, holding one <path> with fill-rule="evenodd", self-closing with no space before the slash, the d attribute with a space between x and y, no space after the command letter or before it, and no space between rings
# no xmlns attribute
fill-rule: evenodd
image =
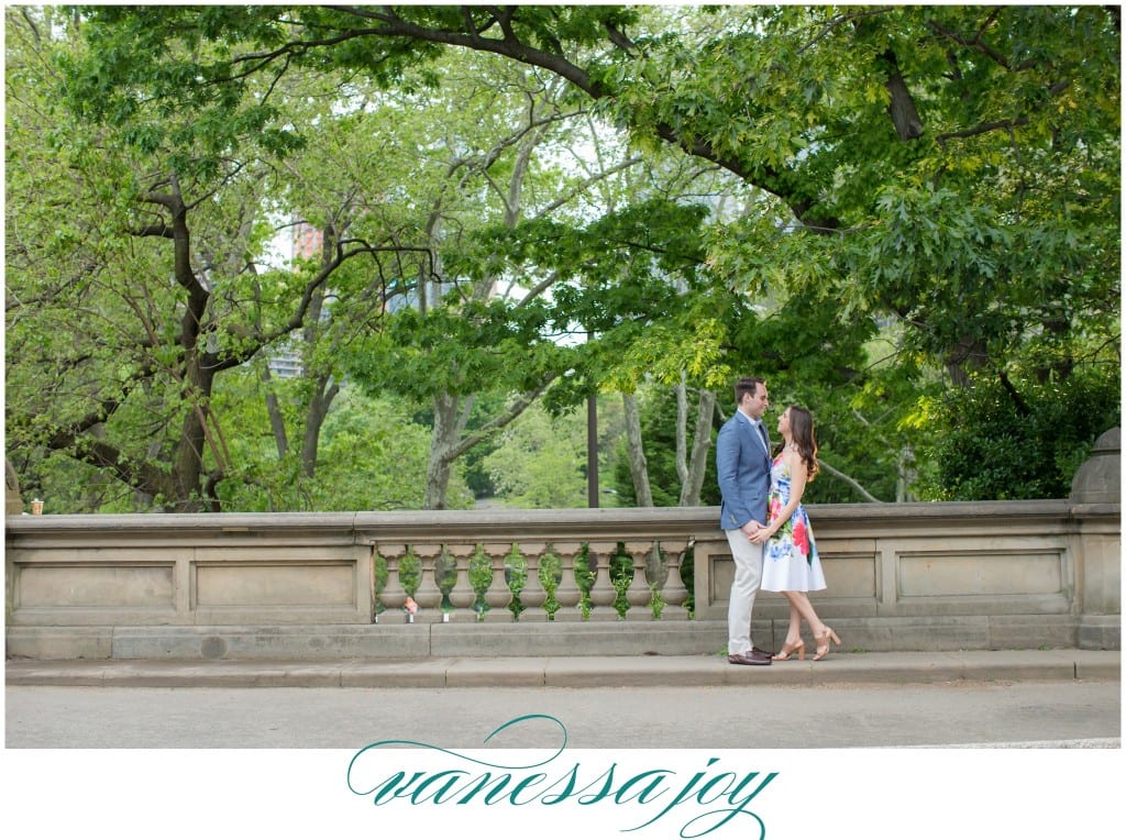
<svg viewBox="0 0 1126 840"><path fill-rule="evenodd" d="M778 419L778 432L785 444L770 467L769 522L751 539L766 543L761 589L781 592L789 601L789 629L786 643L774 655L787 660L795 653L805 659L802 619L810 625L817 650L814 661L829 654L829 643L840 644L832 627L825 625L810 604L806 592L825 588L825 575L817 557L810 517L802 507L805 485L817 474L817 443L810 412L790 405Z"/></svg>

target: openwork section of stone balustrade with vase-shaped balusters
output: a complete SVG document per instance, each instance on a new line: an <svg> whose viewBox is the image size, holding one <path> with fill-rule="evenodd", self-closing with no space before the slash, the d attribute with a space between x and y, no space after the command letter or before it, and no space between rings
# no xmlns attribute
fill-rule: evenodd
<svg viewBox="0 0 1126 840"><path fill-rule="evenodd" d="M408 598L414 620L673 619L691 608L681 563L714 535L701 512L361 513L356 537L372 546L376 620Z"/></svg>

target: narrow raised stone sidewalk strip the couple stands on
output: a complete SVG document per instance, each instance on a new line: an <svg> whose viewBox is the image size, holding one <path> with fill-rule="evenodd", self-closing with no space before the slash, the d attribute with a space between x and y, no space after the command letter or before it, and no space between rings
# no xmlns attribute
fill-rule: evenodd
<svg viewBox="0 0 1126 840"><path fill-rule="evenodd" d="M840 653L732 665L725 656L504 656L422 660L21 660L8 686L193 688L613 688L911 685L1121 679L1120 651Z"/></svg>

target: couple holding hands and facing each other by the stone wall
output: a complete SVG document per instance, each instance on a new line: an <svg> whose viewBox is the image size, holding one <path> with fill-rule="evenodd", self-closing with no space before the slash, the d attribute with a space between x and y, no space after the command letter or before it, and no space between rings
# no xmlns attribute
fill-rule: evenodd
<svg viewBox="0 0 1126 840"><path fill-rule="evenodd" d="M795 653L804 660L803 618L816 643L813 659L824 659L830 642L839 645L841 641L817 617L806 595L825 588L810 517L802 506L805 485L817 472L813 418L797 405L787 408L778 419L785 443L772 456L762 423L769 405L766 382L753 376L740 379L735 402L739 410L720 430L715 452L723 494L720 525L735 561L727 607L727 661L769 665ZM751 643L751 610L759 589L781 592L789 601L789 628L778 653Z"/></svg>

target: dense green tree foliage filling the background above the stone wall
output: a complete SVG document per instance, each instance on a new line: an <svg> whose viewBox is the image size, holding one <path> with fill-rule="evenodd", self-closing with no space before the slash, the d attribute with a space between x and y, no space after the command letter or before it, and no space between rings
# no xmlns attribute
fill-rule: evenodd
<svg viewBox="0 0 1126 840"><path fill-rule="evenodd" d="M814 410L815 501L1060 495L1120 422L1117 7L9 7L6 36L7 450L56 510L459 507L466 458L570 503L553 423L618 392L674 503L669 390L730 412L750 373ZM319 239L279 260L291 226ZM548 440L554 479L489 466Z"/></svg>

